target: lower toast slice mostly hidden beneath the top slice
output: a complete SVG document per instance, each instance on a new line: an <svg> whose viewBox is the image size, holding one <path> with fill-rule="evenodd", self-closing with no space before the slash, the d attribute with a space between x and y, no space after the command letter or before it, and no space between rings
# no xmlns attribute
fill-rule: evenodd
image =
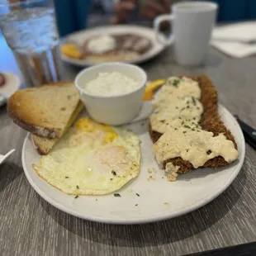
<svg viewBox="0 0 256 256"><path fill-rule="evenodd" d="M78 107L73 112L67 126L64 129L64 133L69 130L69 127L73 125L73 122L77 119L79 113L83 110L83 103L79 102ZM59 141L59 138L56 139L46 139L38 135L32 135L33 143L36 147L36 150L39 154L48 154L50 149Z"/></svg>

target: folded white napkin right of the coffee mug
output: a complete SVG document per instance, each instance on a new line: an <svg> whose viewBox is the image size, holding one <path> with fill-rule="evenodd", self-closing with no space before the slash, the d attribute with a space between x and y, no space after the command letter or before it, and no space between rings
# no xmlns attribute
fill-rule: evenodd
<svg viewBox="0 0 256 256"><path fill-rule="evenodd" d="M216 27L211 45L234 58L256 54L256 21Z"/></svg>

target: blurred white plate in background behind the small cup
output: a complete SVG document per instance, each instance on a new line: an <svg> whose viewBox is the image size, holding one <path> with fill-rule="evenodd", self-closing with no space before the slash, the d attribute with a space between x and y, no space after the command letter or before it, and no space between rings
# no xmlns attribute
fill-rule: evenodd
<svg viewBox="0 0 256 256"><path fill-rule="evenodd" d="M145 26L129 26L129 25L119 25L119 26L98 26L93 29L88 29L85 31L79 31L73 33L66 37L66 40L77 42L79 45L83 45L83 42L92 36L99 36L101 34L124 34L131 33L139 36L145 36L152 41L152 48L146 52L144 55L141 55L138 59L133 59L129 61L124 61L130 64L139 64L146 60L154 58L154 56L159 55L159 53L164 50L164 45L159 44L155 39L154 30ZM160 35L164 37L164 35ZM93 61L89 59L73 59L68 56L61 55L61 58L70 64L75 64L78 66L92 66L94 64L101 63L100 61Z"/></svg>

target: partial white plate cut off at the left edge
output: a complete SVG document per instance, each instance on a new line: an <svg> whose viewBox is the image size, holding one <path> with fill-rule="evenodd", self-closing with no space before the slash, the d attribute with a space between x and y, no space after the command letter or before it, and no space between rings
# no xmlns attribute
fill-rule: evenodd
<svg viewBox="0 0 256 256"><path fill-rule="evenodd" d="M6 97L6 100L12 96L21 86L21 79L13 73L2 72L5 78L5 84L0 86L0 94ZM5 104L6 101L0 99L0 107Z"/></svg>

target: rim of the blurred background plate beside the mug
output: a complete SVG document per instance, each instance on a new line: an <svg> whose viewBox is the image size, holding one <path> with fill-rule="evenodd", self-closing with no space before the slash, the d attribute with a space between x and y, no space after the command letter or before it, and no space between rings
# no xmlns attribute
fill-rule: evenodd
<svg viewBox="0 0 256 256"><path fill-rule="evenodd" d="M88 28L86 30L82 30L82 31L77 31L77 32L73 32L67 36L64 37L64 40L69 39L72 36L77 36L79 34L87 34L87 33L91 33L92 31L97 31L97 30L103 30L103 29L107 29L107 30L116 30L118 28L129 28L129 29L141 29L141 31L149 31L151 33L154 33L154 28L151 27L147 27L147 26L135 26L135 25L115 25L115 26L96 26L93 28ZM159 33L161 36L164 36L163 33ZM165 37L165 36L164 36ZM158 42L156 42L157 45L159 45L159 49L155 49L154 52L152 52L150 55L145 55L144 57L140 57L137 59L133 59L133 60L124 60L121 61L123 63L127 63L127 64L140 64L143 63L149 59L154 58L155 56L159 55L163 50L166 49L167 46L169 45L164 45L164 44L160 44ZM155 47L155 45L154 45ZM60 53L60 58L69 64L73 64L79 67L90 67L96 64L102 64L105 62L97 62L97 61L93 61L93 60L86 60L86 59L73 59L73 58L69 58L68 56L62 55Z"/></svg>

